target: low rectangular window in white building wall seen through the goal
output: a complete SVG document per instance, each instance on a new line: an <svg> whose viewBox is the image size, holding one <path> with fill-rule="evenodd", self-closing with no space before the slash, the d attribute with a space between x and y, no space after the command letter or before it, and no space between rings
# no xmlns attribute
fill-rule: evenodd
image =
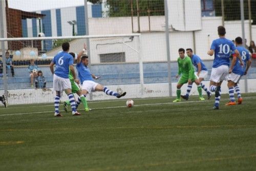
<svg viewBox="0 0 256 171"><path fill-rule="evenodd" d="M100 63L125 62L125 52L100 54Z"/></svg>

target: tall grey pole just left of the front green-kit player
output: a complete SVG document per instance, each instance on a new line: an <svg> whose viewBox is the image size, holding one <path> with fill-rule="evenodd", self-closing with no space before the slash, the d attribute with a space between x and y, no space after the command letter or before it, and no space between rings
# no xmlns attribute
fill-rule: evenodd
<svg viewBox="0 0 256 171"><path fill-rule="evenodd" d="M170 70L170 39L169 39L169 18L167 0L164 0L164 15L165 15L165 40L168 64L168 83L169 83L169 96L172 97L172 72Z"/></svg>

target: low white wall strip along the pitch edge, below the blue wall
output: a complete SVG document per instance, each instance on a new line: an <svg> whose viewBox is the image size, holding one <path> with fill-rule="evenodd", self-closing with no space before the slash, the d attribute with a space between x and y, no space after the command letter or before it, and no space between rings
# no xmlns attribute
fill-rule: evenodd
<svg viewBox="0 0 256 171"><path fill-rule="evenodd" d="M249 79L248 85L255 85L256 79ZM205 81L205 86L209 87L209 81ZM222 86L222 94L228 93L228 88L226 86L227 82L223 82ZM240 89L241 93L244 93L245 87L244 87L244 80L240 81ZM176 97L176 86L177 82L172 84L172 96L173 98ZM108 86L110 90L113 91L120 91L123 92L126 91L127 94L124 98L131 99L131 98L141 98L141 89L140 84L129 84L129 85L118 85L118 86ZM184 86L181 88L181 94L186 93L187 85L184 84ZM154 83L154 84L144 84L144 91L143 91L143 98L147 97L168 97L168 83ZM42 91L41 89L21 89L21 90L8 90L8 102L9 104L30 104L30 103L53 103L55 92L53 89L47 89L47 91ZM249 93L256 92L256 88L254 86L248 87ZM4 94L3 90L0 90L0 94ZM197 87L193 86L191 92L191 95L198 95ZM204 91L203 94L205 95ZM75 95L77 96L77 95ZM87 96L87 99L89 96ZM77 97L76 97L77 98ZM213 97L212 97L213 98ZM64 101L68 99L67 95L63 93L63 96L61 97L61 101ZM95 92L93 93L93 100L109 100L109 99L116 99L114 96L108 96L103 92Z"/></svg>

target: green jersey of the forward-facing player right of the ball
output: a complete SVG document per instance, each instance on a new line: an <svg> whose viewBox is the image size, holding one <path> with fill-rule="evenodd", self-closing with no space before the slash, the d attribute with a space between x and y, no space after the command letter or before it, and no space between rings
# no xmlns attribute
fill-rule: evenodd
<svg viewBox="0 0 256 171"><path fill-rule="evenodd" d="M183 77L188 77L188 79L192 79L194 77L194 68L190 57L185 56L183 59L178 58L178 74L182 74Z"/></svg>

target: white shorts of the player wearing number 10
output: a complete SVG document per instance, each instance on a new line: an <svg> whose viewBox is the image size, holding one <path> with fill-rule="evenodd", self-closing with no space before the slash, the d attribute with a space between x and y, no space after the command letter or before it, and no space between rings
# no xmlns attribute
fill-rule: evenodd
<svg viewBox="0 0 256 171"><path fill-rule="evenodd" d="M217 68L212 68L210 74L210 81L220 82L223 80L227 80L228 69L228 66L225 65L222 65Z"/></svg>

